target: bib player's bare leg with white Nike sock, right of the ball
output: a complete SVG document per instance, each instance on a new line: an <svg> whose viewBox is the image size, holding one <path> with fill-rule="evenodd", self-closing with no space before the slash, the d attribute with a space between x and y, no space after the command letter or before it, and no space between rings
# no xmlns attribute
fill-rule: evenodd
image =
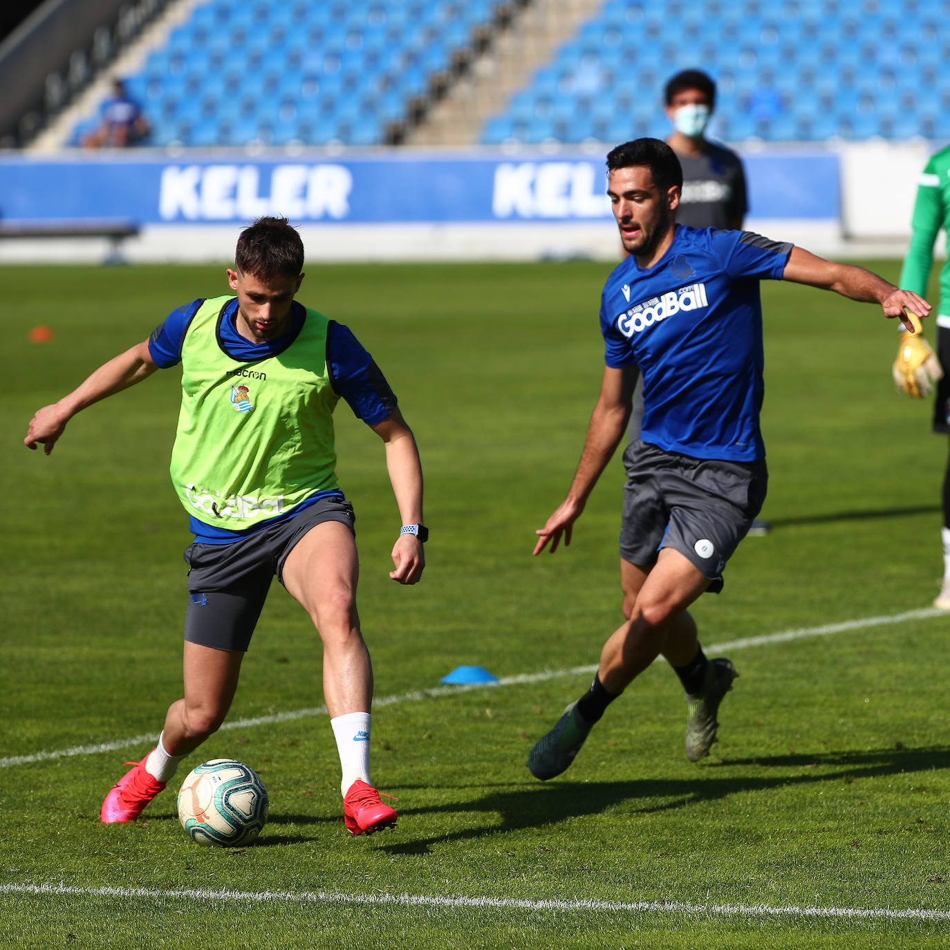
<svg viewBox="0 0 950 950"><path fill-rule="evenodd" d="M359 561L351 530L314 525L284 561L284 586L314 621L323 641L323 693L340 754L344 817L351 834L396 824L370 777L372 666L356 612Z"/></svg>

